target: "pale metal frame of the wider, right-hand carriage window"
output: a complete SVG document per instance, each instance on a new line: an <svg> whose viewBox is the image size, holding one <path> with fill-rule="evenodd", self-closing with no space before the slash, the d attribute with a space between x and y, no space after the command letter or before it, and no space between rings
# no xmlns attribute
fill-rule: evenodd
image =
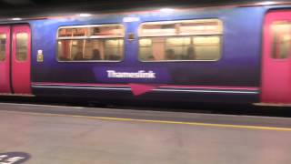
<svg viewBox="0 0 291 164"><path fill-rule="evenodd" d="M218 26L221 27L220 28L220 33L217 34L195 34L195 35L159 35L159 36L143 36L141 35L141 29L142 26L144 25L163 25L163 23L166 24L175 24L175 23L193 23L193 22L212 22L212 21L216 21L218 23ZM220 60L222 58L223 55L223 36L224 36L224 24L223 21L219 18L204 18L204 19L186 19L186 20L175 20L175 21L148 21L148 22L143 22L138 26L138 40L137 40L137 44L138 44L138 52L137 52L137 59L140 62L144 62L144 63L163 63L163 62L216 62L218 60ZM153 37L165 37L166 38L174 38L174 37L183 37L183 36L189 36L189 37L195 37L195 36L219 36L219 57L214 59L214 60L142 60L139 57L139 53L140 53L140 44L139 44L139 40L140 39L145 39L145 38L153 38ZM166 41L164 43L164 46L166 47Z"/></svg>

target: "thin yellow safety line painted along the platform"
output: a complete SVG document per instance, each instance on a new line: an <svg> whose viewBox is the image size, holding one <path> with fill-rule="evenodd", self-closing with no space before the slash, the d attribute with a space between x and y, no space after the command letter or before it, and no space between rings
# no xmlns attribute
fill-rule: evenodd
<svg viewBox="0 0 291 164"><path fill-rule="evenodd" d="M5 111L8 111L8 110L5 110ZM51 116L51 117L90 118L90 119L103 119L103 120L115 120L115 121L132 121L132 122L146 122L146 123L179 124L179 125L217 127L217 128L248 128L248 129L263 129L263 130L276 130L276 131L291 131L291 128L276 128L276 127L263 127L263 126L244 126L244 125L231 125L231 124L214 124L214 123L167 121L167 120L154 120L154 119L153 120L152 119L135 119L135 118L90 117L90 116L79 116L79 115L37 113L37 112L21 112L21 111L8 111L8 112L30 114L30 115L37 115L37 116L47 116L47 117Z"/></svg>

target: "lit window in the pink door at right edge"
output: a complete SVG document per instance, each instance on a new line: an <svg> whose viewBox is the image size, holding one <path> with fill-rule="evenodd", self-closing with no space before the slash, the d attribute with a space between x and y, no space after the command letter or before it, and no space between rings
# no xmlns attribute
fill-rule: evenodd
<svg viewBox="0 0 291 164"><path fill-rule="evenodd" d="M272 57L284 59L290 56L291 22L275 22L272 25L273 50Z"/></svg>

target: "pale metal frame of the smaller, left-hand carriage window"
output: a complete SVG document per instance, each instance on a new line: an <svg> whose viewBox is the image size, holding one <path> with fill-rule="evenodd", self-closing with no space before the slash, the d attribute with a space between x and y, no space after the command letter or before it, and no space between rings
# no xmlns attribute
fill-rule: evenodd
<svg viewBox="0 0 291 164"><path fill-rule="evenodd" d="M123 30L123 35L118 37L112 37L112 36L65 36L65 37L59 37L59 31L62 28L77 28L77 27L97 27L97 26L121 26ZM59 60L58 57L58 41L59 40L105 40L105 39L122 39L124 41L123 45L123 56L121 56L120 60ZM120 63L123 62L125 59L125 26L123 24L100 24L100 25L79 25L79 26L59 26L56 31L55 36L55 60L59 63Z"/></svg>

